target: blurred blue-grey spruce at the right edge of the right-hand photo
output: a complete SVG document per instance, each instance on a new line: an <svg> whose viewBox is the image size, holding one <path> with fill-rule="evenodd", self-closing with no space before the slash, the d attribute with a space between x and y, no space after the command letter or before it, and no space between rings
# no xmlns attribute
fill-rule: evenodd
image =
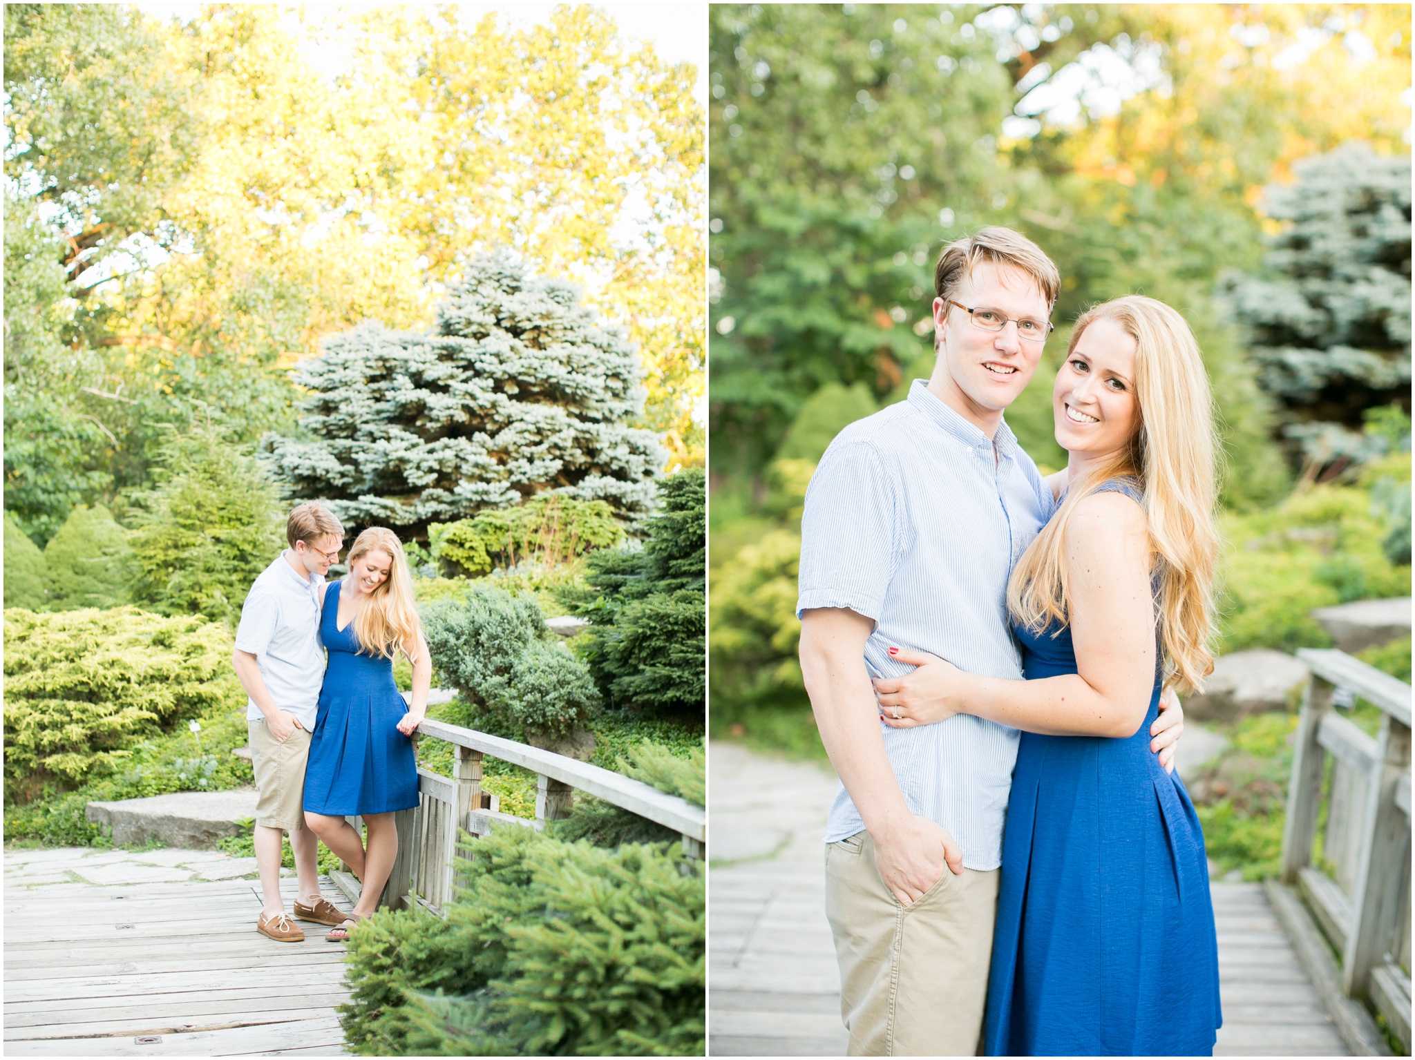
<svg viewBox="0 0 1415 1060"><path fill-rule="evenodd" d="M1409 406L1411 163L1350 143L1295 170L1262 204L1283 223L1272 274L1230 274L1227 290L1288 437L1327 464L1363 455L1365 413Z"/></svg>

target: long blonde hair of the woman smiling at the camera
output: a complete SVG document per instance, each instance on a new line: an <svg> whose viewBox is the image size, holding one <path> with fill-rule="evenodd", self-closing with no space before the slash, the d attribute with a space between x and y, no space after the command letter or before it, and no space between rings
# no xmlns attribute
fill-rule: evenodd
<svg viewBox="0 0 1415 1060"><path fill-rule="evenodd" d="M1140 427L1129 445L1073 482L1061 507L1007 582L1007 608L1029 629L1067 622L1065 530L1077 505L1108 479L1132 476L1156 555L1160 657L1166 683L1199 690L1214 670L1208 650L1218 557L1217 438L1208 373L1189 324L1165 302L1132 294L1102 302L1075 322L1067 359L1088 325L1116 321L1135 339Z"/></svg>

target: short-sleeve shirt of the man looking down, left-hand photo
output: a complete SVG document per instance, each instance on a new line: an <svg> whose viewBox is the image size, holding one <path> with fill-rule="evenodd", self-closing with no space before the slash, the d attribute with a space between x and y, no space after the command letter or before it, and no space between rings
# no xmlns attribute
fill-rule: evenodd
<svg viewBox="0 0 1415 1060"><path fill-rule="evenodd" d="M260 664L260 677L276 707L289 711L314 732L324 684L324 643L320 640L318 574L308 579L290 567L286 554L260 572L241 608L236 650L249 652ZM246 700L246 718L263 718L255 700Z"/></svg>

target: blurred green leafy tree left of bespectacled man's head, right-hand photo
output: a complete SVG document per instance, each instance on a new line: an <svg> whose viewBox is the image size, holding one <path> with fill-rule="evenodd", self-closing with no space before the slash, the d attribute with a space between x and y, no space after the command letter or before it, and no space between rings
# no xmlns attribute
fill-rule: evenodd
<svg viewBox="0 0 1415 1060"><path fill-rule="evenodd" d="M825 383L873 394L928 349L940 240L1005 219L1012 79L975 8L709 14L710 431L756 471Z"/></svg>

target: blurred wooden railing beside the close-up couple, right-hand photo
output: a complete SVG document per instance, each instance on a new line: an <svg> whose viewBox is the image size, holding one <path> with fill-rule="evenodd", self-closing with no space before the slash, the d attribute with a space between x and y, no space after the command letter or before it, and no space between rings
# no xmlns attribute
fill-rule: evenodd
<svg viewBox="0 0 1415 1060"><path fill-rule="evenodd" d="M1299 888L1340 954L1341 994L1368 999L1408 1052L1411 687L1344 652L1300 649L1298 656L1312 681L1292 759L1282 879ZM1334 712L1334 700L1350 705L1351 697L1381 709L1374 738ZM1313 864L1323 807L1320 862L1330 875Z"/></svg>

